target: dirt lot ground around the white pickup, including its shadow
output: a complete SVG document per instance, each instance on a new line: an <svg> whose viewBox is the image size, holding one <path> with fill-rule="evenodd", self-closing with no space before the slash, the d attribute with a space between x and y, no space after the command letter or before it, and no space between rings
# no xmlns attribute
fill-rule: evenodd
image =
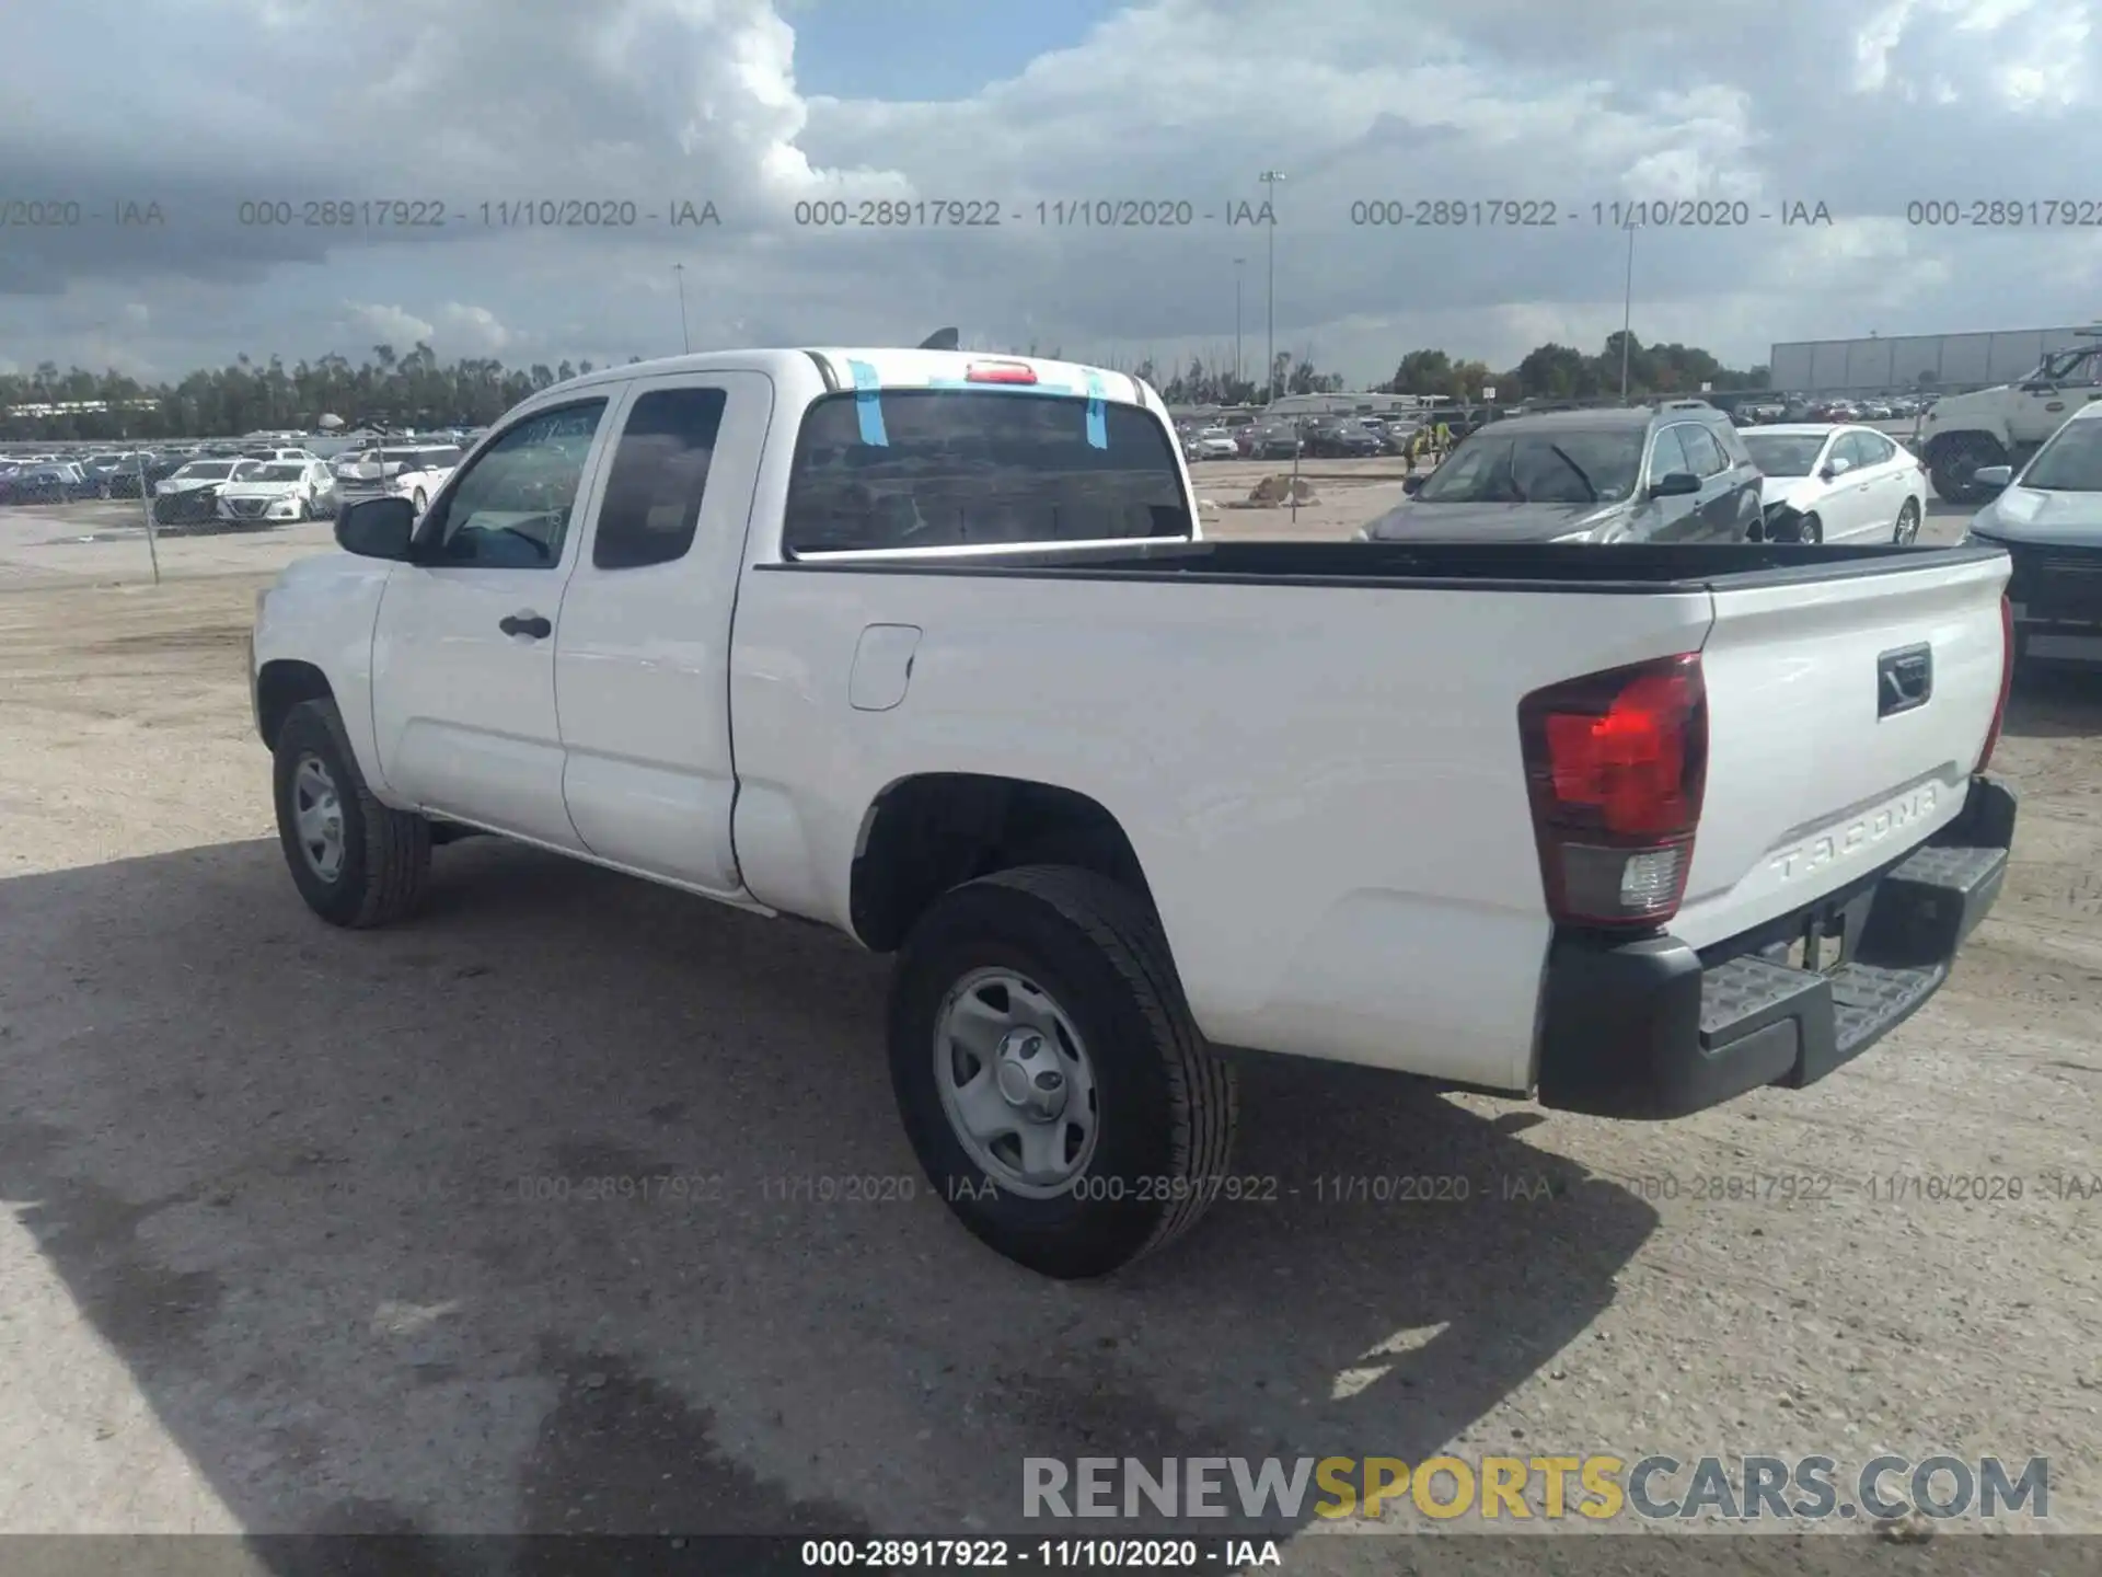
<svg viewBox="0 0 2102 1577"><path fill-rule="evenodd" d="M1316 486L1343 534L1392 479ZM1953 984L1814 1091L1640 1127L1257 1066L1280 1196L1066 1287L925 1192L807 1196L916 1180L841 938L496 843L404 929L301 908L227 570L324 532L164 542L160 589L143 538L36 532L95 521L0 515L0 1531L954 1535L1022 1527L1026 1455L1440 1449L2047 1455L2102 1531L2102 1199L2052 1182L2102 1171L2094 679L2018 694ZM1398 1173L1469 1201L1318 1182ZM1396 1569L1333 1531L1291 1569ZM1484 1569L1455 1543L1408 1558Z"/></svg>

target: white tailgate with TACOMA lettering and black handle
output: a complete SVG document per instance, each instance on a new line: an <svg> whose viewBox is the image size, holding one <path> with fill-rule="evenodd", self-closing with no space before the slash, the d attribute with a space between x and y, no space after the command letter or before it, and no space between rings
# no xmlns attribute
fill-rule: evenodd
<svg viewBox="0 0 2102 1577"><path fill-rule="evenodd" d="M2005 582L2003 555L1715 582L1684 942L1804 908L1957 818L1999 704Z"/></svg>

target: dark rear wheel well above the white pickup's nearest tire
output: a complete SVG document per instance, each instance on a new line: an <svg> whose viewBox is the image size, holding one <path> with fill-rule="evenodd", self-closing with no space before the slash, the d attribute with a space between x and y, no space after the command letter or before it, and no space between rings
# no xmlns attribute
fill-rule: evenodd
<svg viewBox="0 0 2102 1577"><path fill-rule="evenodd" d="M853 856L853 931L891 953L935 898L1022 864L1072 864L1152 900L1118 820L1087 795L1024 778L933 772L870 805Z"/></svg>

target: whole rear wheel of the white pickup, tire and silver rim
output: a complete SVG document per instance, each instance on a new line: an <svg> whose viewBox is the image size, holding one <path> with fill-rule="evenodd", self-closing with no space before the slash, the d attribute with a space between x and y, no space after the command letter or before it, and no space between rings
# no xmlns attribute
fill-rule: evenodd
<svg viewBox="0 0 2102 1577"><path fill-rule="evenodd" d="M1228 1188L1234 1070L1131 887L1074 866L942 898L898 959L891 1087L927 1180L986 1245L1101 1276Z"/></svg>

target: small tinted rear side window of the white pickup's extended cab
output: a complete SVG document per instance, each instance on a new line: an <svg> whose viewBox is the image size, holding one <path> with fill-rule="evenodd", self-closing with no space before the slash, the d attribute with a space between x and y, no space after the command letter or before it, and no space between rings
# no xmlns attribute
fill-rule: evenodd
<svg viewBox="0 0 2102 1577"><path fill-rule="evenodd" d="M635 402L605 473L593 566L641 570L685 557L727 402L721 389L652 389Z"/></svg>

